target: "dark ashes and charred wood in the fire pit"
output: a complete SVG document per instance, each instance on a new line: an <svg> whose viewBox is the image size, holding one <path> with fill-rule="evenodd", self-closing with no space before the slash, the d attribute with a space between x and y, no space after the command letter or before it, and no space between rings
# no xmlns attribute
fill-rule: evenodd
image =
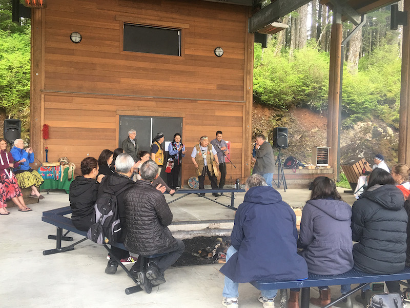
<svg viewBox="0 0 410 308"><path fill-rule="evenodd" d="M231 244L231 237L200 236L183 240L183 243L185 244L185 252L182 254L182 256L179 257L179 259L173 264L173 266L218 263L218 257L224 257L224 252L226 252L227 247L229 247L229 245Z"/></svg>

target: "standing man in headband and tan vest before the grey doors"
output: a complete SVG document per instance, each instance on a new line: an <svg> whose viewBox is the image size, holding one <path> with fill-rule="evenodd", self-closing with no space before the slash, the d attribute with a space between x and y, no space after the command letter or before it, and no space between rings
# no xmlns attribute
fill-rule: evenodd
<svg viewBox="0 0 410 308"><path fill-rule="evenodd" d="M212 163L215 160L217 166L219 166L218 155L214 146L209 144L208 136L202 136L199 139L199 143L192 149L191 159L197 170L199 189L204 189L203 181L205 180L205 175L208 175L212 189L217 189L218 182ZM203 196L205 194L201 195ZM215 197L219 196L216 192L212 195Z"/></svg>

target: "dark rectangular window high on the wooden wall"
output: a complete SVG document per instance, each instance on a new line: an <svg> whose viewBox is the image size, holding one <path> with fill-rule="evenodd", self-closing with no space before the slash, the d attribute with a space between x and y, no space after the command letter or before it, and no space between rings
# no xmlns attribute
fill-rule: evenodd
<svg viewBox="0 0 410 308"><path fill-rule="evenodd" d="M181 29L124 24L124 51L181 55Z"/></svg>

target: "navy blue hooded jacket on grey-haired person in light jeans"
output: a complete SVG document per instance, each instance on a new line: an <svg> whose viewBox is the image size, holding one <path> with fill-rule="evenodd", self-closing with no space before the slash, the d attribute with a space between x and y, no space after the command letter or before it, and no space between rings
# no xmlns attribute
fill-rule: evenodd
<svg viewBox="0 0 410 308"><path fill-rule="evenodd" d="M231 235L238 252L220 272L234 282L302 280L308 266L297 254L296 215L270 186L250 188L239 205Z"/></svg>

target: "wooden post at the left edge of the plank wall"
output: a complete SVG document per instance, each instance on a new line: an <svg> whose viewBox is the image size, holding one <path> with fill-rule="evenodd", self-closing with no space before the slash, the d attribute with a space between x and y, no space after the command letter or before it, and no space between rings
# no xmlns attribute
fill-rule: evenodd
<svg viewBox="0 0 410 308"><path fill-rule="evenodd" d="M42 145L42 52L43 52L43 9L31 9L31 87L30 87L30 146L33 151L43 161L44 149ZM33 163L32 168L37 169Z"/></svg>

